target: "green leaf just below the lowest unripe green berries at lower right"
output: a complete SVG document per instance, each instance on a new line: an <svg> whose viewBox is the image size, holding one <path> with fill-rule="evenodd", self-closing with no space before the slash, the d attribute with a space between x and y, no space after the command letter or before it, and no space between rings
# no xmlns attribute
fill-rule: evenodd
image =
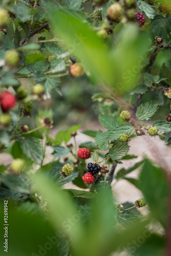
<svg viewBox="0 0 171 256"><path fill-rule="evenodd" d="M117 215L117 221L125 228L131 227L138 221L138 217L130 210L124 210L121 214Z"/></svg>

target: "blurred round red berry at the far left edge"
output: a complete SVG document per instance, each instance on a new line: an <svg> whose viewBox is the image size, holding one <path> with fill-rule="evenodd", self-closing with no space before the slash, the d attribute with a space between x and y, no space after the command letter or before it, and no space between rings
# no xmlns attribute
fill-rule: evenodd
<svg viewBox="0 0 171 256"><path fill-rule="evenodd" d="M5 111L13 108L13 106L15 106L16 97L15 97L15 95L13 95L7 91L4 91L0 95L0 101L1 101L1 108L5 112Z"/></svg>

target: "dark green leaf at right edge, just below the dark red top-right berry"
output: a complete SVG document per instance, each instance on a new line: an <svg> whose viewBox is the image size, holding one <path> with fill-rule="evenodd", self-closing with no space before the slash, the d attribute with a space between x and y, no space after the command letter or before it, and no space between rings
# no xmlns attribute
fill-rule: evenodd
<svg viewBox="0 0 171 256"><path fill-rule="evenodd" d="M171 15L167 14L165 17L157 15L151 22L152 31L154 36L161 36L165 39L166 43L170 41L170 29L171 29Z"/></svg>

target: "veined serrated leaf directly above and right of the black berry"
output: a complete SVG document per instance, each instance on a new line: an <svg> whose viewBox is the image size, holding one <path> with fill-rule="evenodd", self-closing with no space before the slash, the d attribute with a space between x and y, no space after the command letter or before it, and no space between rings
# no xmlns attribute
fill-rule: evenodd
<svg viewBox="0 0 171 256"><path fill-rule="evenodd" d="M118 160L127 155L129 149L130 146L128 144L115 140L113 146L109 150L109 154L111 155L112 160Z"/></svg>

